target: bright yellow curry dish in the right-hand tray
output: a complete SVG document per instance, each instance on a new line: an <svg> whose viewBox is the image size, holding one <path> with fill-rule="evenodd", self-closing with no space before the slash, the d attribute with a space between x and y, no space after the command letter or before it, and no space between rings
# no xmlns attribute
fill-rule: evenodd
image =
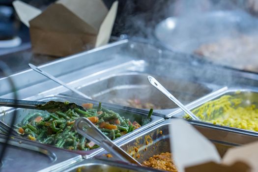
<svg viewBox="0 0 258 172"><path fill-rule="evenodd" d="M258 109L250 102L242 106L242 99L224 95L204 103L192 112L202 121L258 132Z"/></svg>

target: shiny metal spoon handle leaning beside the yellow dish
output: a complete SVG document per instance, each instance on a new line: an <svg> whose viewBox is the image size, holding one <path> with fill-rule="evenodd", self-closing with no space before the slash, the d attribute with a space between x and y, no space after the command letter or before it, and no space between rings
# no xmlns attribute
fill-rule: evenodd
<svg viewBox="0 0 258 172"><path fill-rule="evenodd" d="M152 86L157 88L160 92L166 95L170 100L172 100L179 108L181 108L186 114L195 120L200 120L196 115L194 115L189 109L187 109L179 100L177 100L164 86L162 86L154 77L148 76L148 80Z"/></svg>

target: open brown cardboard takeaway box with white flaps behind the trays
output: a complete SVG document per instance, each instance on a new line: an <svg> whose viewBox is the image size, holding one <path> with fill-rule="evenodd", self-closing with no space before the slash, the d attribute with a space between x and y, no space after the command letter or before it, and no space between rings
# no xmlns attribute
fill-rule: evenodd
<svg viewBox="0 0 258 172"><path fill-rule="evenodd" d="M102 0L58 0L44 11L19 0L13 5L29 27L33 52L62 57L107 44L118 2L110 10Z"/></svg>

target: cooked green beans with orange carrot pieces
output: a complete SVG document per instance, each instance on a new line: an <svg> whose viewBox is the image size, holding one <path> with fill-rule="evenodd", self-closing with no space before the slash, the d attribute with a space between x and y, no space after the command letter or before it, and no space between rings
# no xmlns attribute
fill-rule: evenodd
<svg viewBox="0 0 258 172"><path fill-rule="evenodd" d="M64 112L56 111L44 115L41 113L29 114L18 124L17 131L32 141L70 150L90 150L97 148L98 145L76 133L73 127L75 120L81 116L87 117L111 140L141 127L138 122L131 122L114 111L103 108L101 103L98 107L93 107L91 103L83 104L83 107L86 109L85 111L73 108ZM151 115L152 110L141 124L150 122Z"/></svg>

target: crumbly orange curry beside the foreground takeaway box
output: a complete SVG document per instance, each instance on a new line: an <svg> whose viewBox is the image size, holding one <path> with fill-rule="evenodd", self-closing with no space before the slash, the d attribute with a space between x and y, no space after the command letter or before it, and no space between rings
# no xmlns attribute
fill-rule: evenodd
<svg viewBox="0 0 258 172"><path fill-rule="evenodd" d="M169 152L154 155L147 161L144 161L142 165L153 169L177 172L177 169L172 161L172 154Z"/></svg>

